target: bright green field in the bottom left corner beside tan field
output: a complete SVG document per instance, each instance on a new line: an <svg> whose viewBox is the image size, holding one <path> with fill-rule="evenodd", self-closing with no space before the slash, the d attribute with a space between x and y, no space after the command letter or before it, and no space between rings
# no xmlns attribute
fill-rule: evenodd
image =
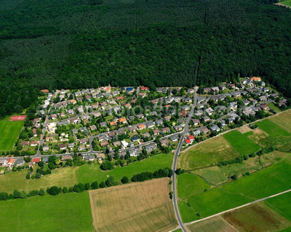
<svg viewBox="0 0 291 232"><path fill-rule="evenodd" d="M0 201L0 208L1 231L94 231L87 191Z"/></svg>

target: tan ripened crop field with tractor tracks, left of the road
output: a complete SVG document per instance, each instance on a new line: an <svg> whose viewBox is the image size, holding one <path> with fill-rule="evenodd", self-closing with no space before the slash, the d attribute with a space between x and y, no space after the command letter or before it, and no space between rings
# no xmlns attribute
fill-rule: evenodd
<svg viewBox="0 0 291 232"><path fill-rule="evenodd" d="M169 231L177 226L169 178L89 192L96 231Z"/></svg>

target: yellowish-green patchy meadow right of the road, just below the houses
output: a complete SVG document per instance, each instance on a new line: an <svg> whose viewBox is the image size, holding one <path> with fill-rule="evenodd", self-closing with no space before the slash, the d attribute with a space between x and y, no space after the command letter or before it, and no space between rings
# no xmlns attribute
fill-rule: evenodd
<svg viewBox="0 0 291 232"><path fill-rule="evenodd" d="M232 159L238 155L238 152L222 136L217 136L181 153L178 168L192 170Z"/></svg>

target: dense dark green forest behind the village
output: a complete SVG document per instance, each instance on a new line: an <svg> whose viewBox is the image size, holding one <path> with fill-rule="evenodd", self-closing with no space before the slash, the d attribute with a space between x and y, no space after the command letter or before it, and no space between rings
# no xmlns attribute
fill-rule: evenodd
<svg viewBox="0 0 291 232"><path fill-rule="evenodd" d="M39 89L216 85L291 97L291 9L273 0L3 0L0 117Z"/></svg>

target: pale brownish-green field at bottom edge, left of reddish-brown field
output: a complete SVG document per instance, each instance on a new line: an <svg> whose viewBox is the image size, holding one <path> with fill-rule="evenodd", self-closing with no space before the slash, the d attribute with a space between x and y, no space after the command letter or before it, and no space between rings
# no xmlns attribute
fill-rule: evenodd
<svg viewBox="0 0 291 232"><path fill-rule="evenodd" d="M206 221L188 225L186 229L189 232L237 232L221 217L214 217Z"/></svg>

